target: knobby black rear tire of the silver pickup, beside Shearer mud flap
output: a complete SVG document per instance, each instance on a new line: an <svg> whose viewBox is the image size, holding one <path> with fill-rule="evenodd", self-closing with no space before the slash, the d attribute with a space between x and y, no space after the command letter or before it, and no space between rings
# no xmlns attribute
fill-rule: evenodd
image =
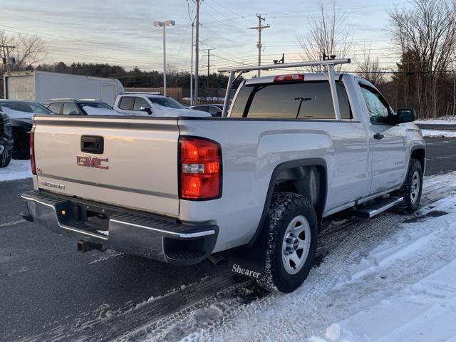
<svg viewBox="0 0 456 342"><path fill-rule="evenodd" d="M294 270L296 271L295 274L290 274L285 266L287 261L283 260L283 258L287 257L286 249L292 247L293 250L293 252L288 254L288 257L294 253L298 256L300 249L296 249L294 242L299 241L299 238L303 241L309 239L309 237L302 239L302 233L300 233L299 237L296 237L291 244L287 229L291 227L290 224L293 224L292 222L294 220L298 218L302 220L303 217L309 224L308 226L306 225L305 229L310 233L310 243L308 242L309 240L306 240L309 249L303 249L303 251L308 250L309 252L301 252L300 266ZM265 276L258 281L261 286L269 290L286 293L294 291L301 286L309 275L312 266L314 266L318 232L317 222L315 209L306 197L292 192L278 192L273 195L266 219L266 224L269 224L269 227L264 227L265 229L269 229L269 237L266 252ZM301 227L299 222L297 227ZM294 238L292 237L291 239ZM304 256L304 253L306 253L306 256ZM291 261L291 264L288 264L288 266L290 267L291 265L292 269L293 264L293 261Z"/></svg>

